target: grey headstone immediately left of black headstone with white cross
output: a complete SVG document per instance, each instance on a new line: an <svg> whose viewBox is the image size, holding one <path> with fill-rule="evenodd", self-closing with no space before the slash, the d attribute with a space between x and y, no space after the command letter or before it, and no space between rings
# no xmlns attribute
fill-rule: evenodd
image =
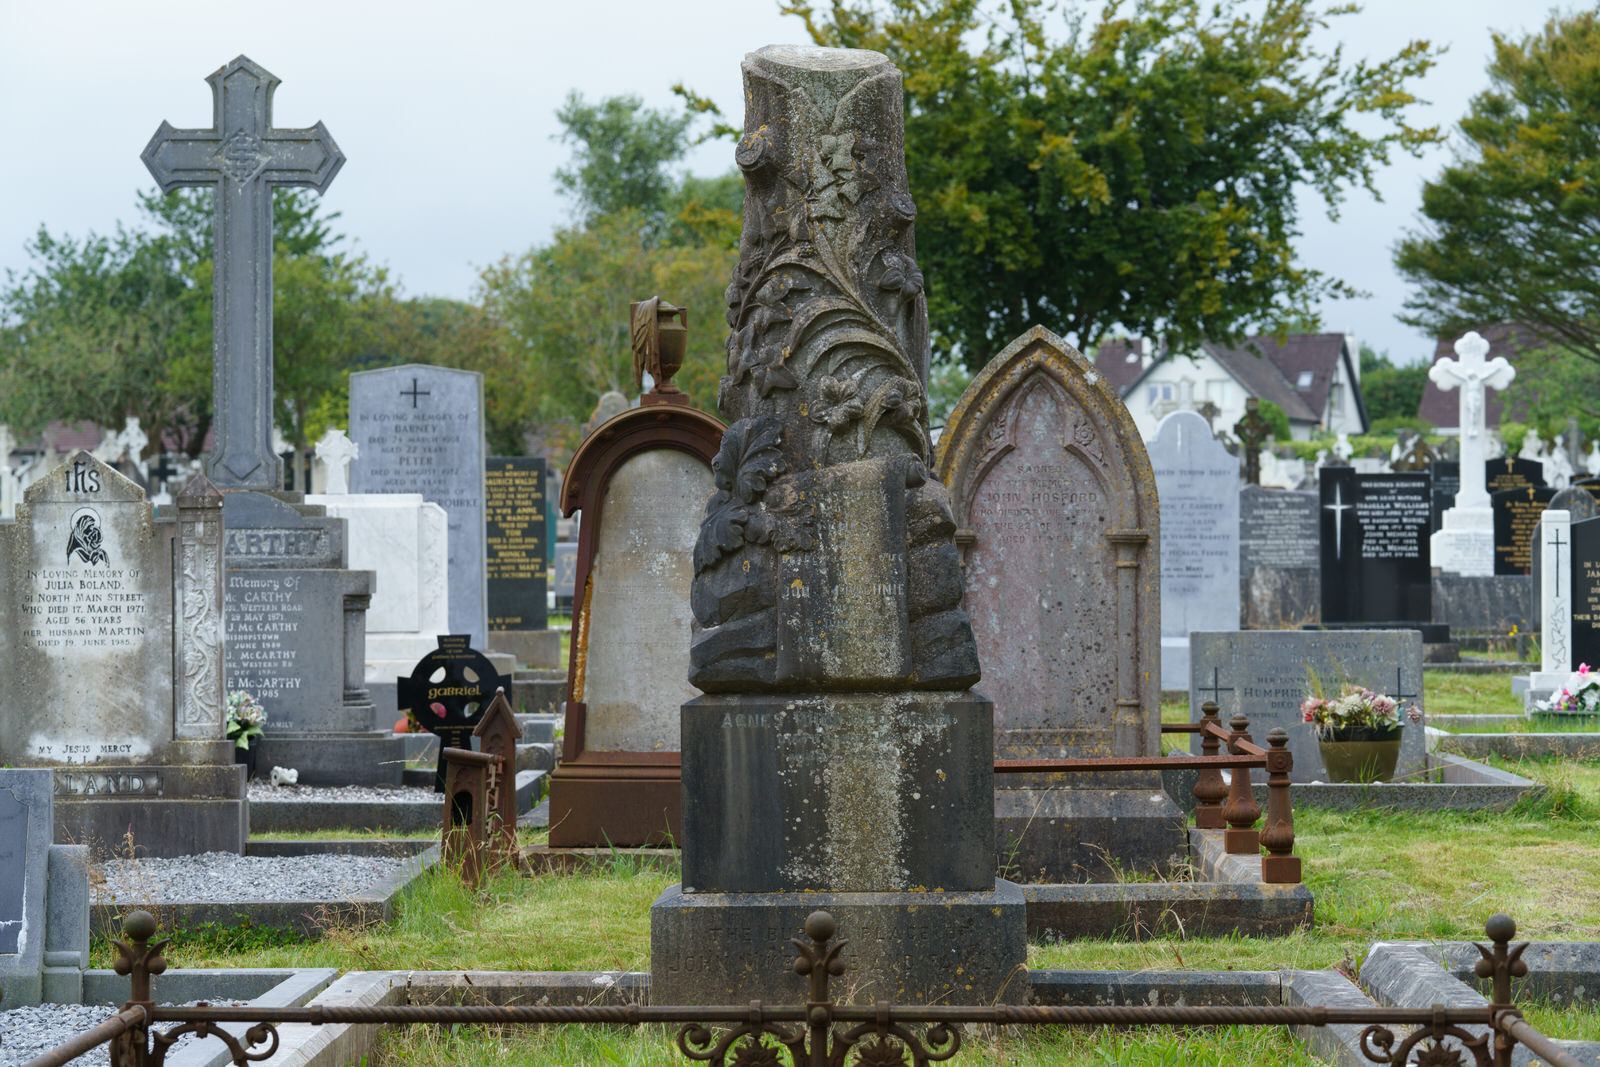
<svg viewBox="0 0 1600 1067"><path fill-rule="evenodd" d="M1317 494L1245 486L1238 493L1240 619L1285 630L1322 619Z"/></svg>

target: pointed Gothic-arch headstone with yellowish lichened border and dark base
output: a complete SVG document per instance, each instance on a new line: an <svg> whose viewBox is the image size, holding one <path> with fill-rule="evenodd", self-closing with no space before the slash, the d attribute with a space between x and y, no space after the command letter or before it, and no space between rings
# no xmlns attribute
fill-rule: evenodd
<svg viewBox="0 0 1600 1067"><path fill-rule="evenodd" d="M1155 475L1117 392L1035 326L966 387L938 470L995 702L995 757L1160 753ZM998 785L997 862L1030 880L1166 869L1182 854L1182 814L1154 773L1005 774Z"/></svg>

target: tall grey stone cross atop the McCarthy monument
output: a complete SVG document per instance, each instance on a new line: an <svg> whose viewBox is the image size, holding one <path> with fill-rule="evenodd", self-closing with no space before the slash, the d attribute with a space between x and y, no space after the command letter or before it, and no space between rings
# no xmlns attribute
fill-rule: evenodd
<svg viewBox="0 0 1600 1067"><path fill-rule="evenodd" d="M163 122L144 165L162 192L210 186L213 221L211 418L216 445L205 474L219 490L282 490L272 450L272 187L317 192L344 165L318 122L309 130L272 125L278 80L245 56L213 74L211 128Z"/></svg>

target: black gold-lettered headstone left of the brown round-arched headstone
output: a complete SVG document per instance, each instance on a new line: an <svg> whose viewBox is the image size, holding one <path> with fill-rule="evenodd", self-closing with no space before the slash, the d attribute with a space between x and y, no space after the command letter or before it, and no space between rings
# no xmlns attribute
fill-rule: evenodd
<svg viewBox="0 0 1600 1067"><path fill-rule="evenodd" d="M542 456L490 456L485 464L490 630L549 624L544 467Z"/></svg>

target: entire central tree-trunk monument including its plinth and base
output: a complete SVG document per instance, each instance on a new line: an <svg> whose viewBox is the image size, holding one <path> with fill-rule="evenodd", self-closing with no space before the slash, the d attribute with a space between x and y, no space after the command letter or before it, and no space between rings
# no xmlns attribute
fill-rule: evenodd
<svg viewBox="0 0 1600 1067"><path fill-rule="evenodd" d="M955 523L926 467L901 75L872 51L774 45L744 85L730 427L694 545L706 696L683 705L683 883L651 909L651 997L803 995L750 931L826 907L858 1000L1021 1001L994 712L968 689Z"/></svg>

